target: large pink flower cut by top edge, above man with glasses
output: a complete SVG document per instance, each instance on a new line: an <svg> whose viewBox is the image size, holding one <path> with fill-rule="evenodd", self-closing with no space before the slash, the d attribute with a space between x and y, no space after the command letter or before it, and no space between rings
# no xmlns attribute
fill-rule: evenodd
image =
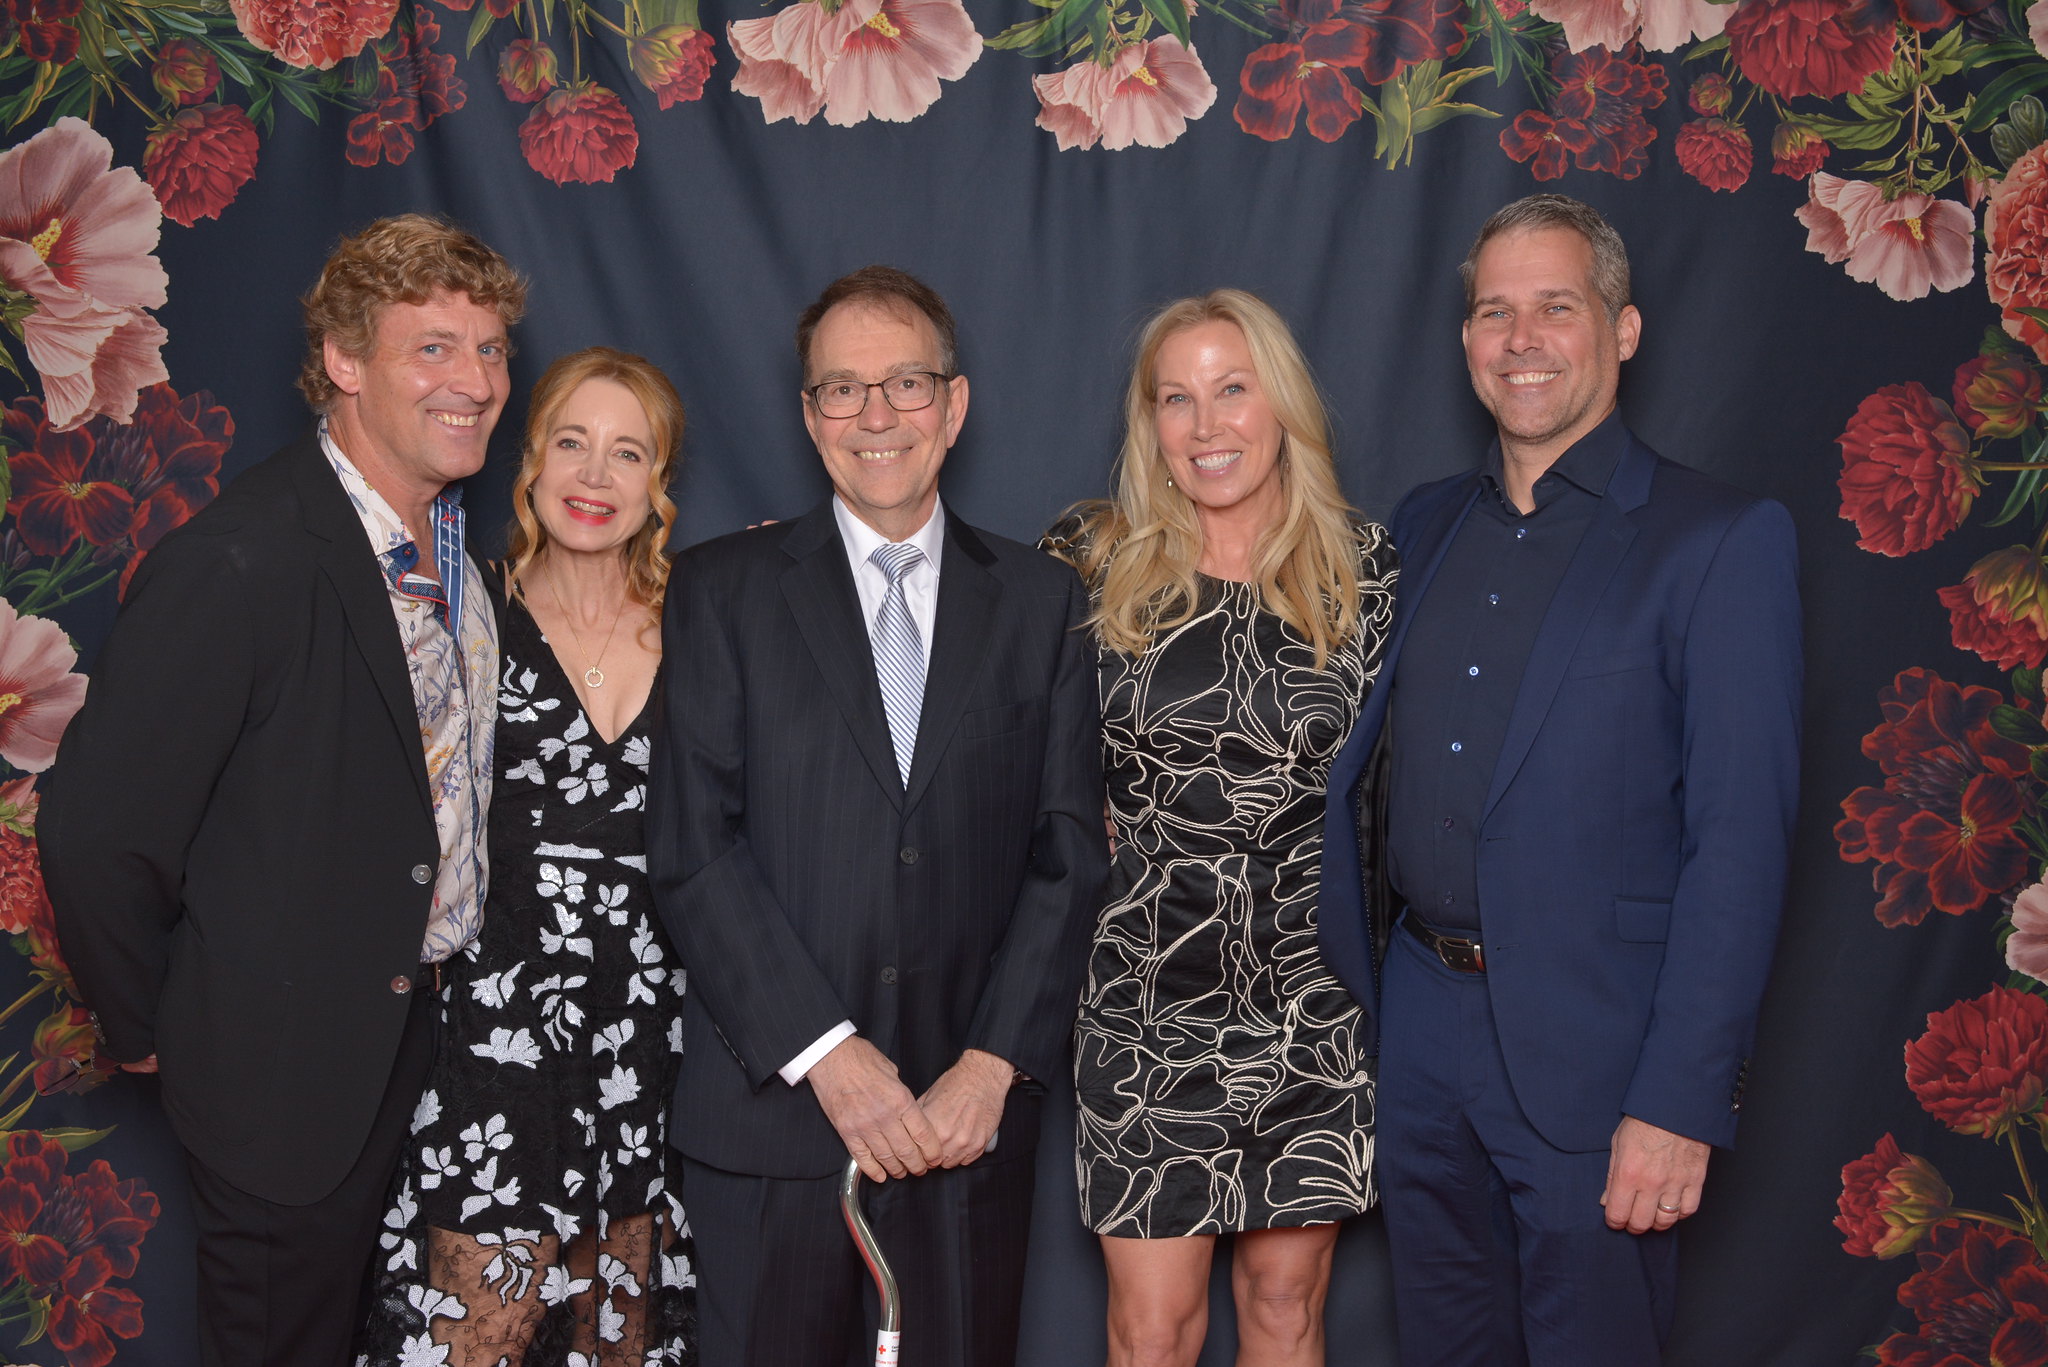
<svg viewBox="0 0 2048 1367"><path fill-rule="evenodd" d="M862 119L907 123L981 57L981 35L961 0L848 0L825 12L799 0L768 18L737 18L733 90L762 102L768 123L840 127Z"/></svg>

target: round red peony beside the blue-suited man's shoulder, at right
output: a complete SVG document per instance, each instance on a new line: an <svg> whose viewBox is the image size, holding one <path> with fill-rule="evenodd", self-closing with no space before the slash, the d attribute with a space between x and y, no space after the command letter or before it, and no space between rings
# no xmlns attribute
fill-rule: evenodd
<svg viewBox="0 0 2048 1367"><path fill-rule="evenodd" d="M1919 381L1872 393L1835 441L1841 516L1866 551L1925 551L1956 531L1982 488L1970 434Z"/></svg>

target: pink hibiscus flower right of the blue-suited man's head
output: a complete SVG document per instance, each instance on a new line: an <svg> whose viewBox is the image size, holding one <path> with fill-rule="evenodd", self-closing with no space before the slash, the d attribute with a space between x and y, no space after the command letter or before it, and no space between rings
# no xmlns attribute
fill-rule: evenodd
<svg viewBox="0 0 2048 1367"><path fill-rule="evenodd" d="M1976 275L1976 219L1954 199L1901 195L1868 180L1815 172L1808 199L1794 209L1806 225L1806 250L1841 264L1851 281L1874 283L1892 299L1960 289Z"/></svg>

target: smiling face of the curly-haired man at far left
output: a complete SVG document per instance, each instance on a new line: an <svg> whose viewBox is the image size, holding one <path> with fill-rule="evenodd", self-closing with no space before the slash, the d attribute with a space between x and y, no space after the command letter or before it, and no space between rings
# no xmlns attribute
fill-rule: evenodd
<svg viewBox="0 0 2048 1367"><path fill-rule="evenodd" d="M365 357L328 342L328 377L340 389L328 428L399 516L483 469L512 387L506 355L498 309L446 291L383 305Z"/></svg>

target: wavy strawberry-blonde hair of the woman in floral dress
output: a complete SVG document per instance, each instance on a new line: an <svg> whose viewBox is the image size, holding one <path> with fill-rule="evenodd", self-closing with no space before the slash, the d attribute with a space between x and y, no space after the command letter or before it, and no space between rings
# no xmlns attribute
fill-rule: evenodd
<svg viewBox="0 0 2048 1367"><path fill-rule="evenodd" d="M668 533L676 525L676 500L668 496L682 451L682 400L653 361L612 346L586 346L557 357L526 404L526 437L520 447L518 478L512 482L512 527L506 531L506 590L524 598L524 576L547 551L547 527L532 510L532 482L547 463L547 434L561 406L586 379L625 385L647 412L653 451L647 463L647 523L625 545L627 596L647 609L641 629L662 625L662 594L668 592Z"/></svg>

